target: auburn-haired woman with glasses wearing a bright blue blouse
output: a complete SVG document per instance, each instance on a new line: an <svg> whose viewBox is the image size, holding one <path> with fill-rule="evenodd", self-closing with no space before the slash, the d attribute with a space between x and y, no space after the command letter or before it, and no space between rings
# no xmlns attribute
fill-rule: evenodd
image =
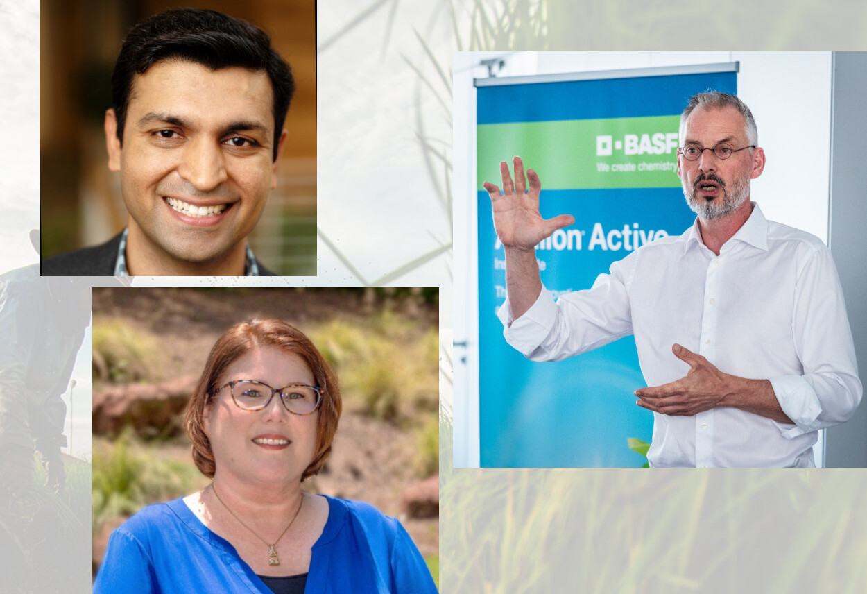
<svg viewBox="0 0 867 594"><path fill-rule="evenodd" d="M331 448L336 376L279 320L220 336L186 408L212 483L148 506L112 533L95 592L436 592L400 523L305 493Z"/></svg>

